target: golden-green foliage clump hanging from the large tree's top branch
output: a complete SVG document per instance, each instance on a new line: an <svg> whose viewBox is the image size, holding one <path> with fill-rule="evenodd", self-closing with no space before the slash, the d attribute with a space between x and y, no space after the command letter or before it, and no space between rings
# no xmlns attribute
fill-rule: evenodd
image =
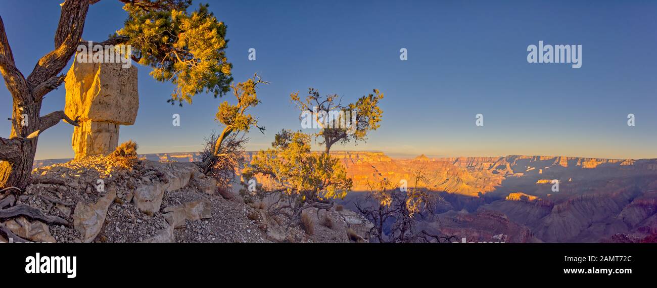
<svg viewBox="0 0 657 288"><path fill-rule="evenodd" d="M204 91L225 95L233 81L225 53L226 25L208 11L208 5L186 12L189 3L127 3L128 18L115 35L127 38L124 44L131 45L139 64L153 68L150 75L155 80L176 85L171 104L192 103L192 97Z"/></svg>

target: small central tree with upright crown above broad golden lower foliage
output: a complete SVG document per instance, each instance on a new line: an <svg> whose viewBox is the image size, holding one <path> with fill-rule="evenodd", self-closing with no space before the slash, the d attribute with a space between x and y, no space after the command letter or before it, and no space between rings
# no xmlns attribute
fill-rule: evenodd
<svg viewBox="0 0 657 288"><path fill-rule="evenodd" d="M319 132L313 135L291 130L277 133L272 148L254 156L242 174L244 180L261 176L271 185L267 189L261 185L255 195L242 190L242 195L247 199L250 196L271 199L273 196L276 201L269 206L270 212L290 216L292 226L296 226L305 209L331 208L334 199L344 198L351 190L353 182L347 178L340 159L330 156L330 148L338 142L365 141L367 133L379 127L383 112L378 107L378 101L383 94L374 89L374 94L363 96L348 105L343 105L337 95L321 97L313 88L309 89L304 101L298 92L292 93L290 98L300 108L302 116L309 114L312 117L310 120L320 124ZM332 111L338 112L334 113L338 116L331 118ZM343 113L340 114L340 111ZM346 122L346 111L352 116L350 127L327 125L330 121ZM323 153L311 152L313 137L321 139Z"/></svg>

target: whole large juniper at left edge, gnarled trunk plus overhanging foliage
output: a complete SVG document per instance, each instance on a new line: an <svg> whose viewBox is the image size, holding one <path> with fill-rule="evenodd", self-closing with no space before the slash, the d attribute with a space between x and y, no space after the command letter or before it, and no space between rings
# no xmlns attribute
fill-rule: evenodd
<svg viewBox="0 0 657 288"><path fill-rule="evenodd" d="M16 68L5 26L0 17L0 73L12 95L12 130L0 137L0 188L22 191L29 183L39 134L60 120L78 126L63 111L41 116L43 97L64 82L60 74L81 36L91 5L99 0L66 0L55 31L55 48L41 57L27 76ZM127 19L124 28L109 39L93 45L131 45L133 60L152 68L150 74L160 82L171 82L175 89L169 101L191 103L202 92L215 97L229 91L231 64L225 49L226 26L208 5L187 12L191 0L120 0Z"/></svg>

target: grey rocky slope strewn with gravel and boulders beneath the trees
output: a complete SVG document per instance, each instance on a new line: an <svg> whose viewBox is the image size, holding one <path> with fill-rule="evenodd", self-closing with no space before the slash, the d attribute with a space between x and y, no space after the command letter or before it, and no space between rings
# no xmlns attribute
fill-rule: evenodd
<svg viewBox="0 0 657 288"><path fill-rule="evenodd" d="M235 193L228 199L215 193L216 181L194 163L139 160L127 169L92 156L36 168L32 178L34 183L17 203L68 220L70 225L47 225L24 217L4 223L30 241L355 242L364 239L355 239L353 233L365 235L371 227L355 212L332 208L319 215L307 210L312 229L288 228L288 220L269 216L263 205L245 204Z"/></svg>

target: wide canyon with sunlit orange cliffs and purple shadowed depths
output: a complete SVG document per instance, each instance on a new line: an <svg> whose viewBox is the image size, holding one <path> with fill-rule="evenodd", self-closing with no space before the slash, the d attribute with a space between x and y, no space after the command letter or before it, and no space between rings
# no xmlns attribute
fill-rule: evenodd
<svg viewBox="0 0 657 288"><path fill-rule="evenodd" d="M254 152L246 153L249 160ZM391 158L382 152L334 151L353 188L338 201L350 210L366 201L368 183L422 188L440 195L438 218L418 218L434 233L468 241L640 242L657 233L657 159L572 156ZM194 162L198 153L140 155L154 161ZM37 160L35 167L60 160ZM558 191L553 191L558 180ZM258 179L258 183L263 183ZM654 239L652 237L650 239ZM497 239L497 240L496 240Z"/></svg>

